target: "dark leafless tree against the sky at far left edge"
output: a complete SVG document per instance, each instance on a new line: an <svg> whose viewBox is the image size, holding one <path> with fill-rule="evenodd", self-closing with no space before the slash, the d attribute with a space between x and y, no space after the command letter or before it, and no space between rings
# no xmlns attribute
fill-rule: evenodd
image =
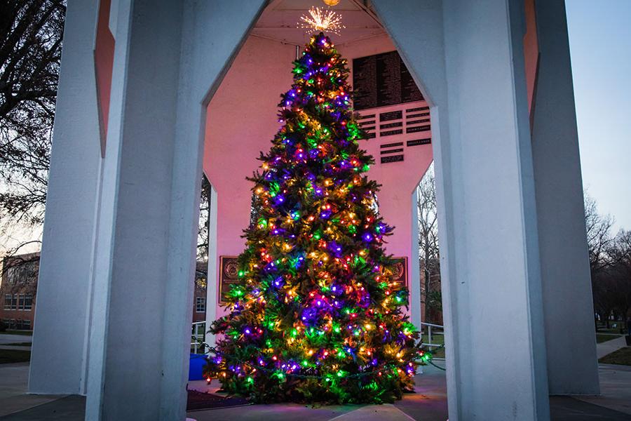
<svg viewBox="0 0 631 421"><path fill-rule="evenodd" d="M0 0L0 229L41 225L65 0ZM25 239L7 255L39 239Z"/></svg>

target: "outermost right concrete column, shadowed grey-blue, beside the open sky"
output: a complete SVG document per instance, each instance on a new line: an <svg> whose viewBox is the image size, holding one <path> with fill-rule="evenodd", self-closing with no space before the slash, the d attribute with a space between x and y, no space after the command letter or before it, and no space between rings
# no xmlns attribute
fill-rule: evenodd
<svg viewBox="0 0 631 421"><path fill-rule="evenodd" d="M541 281L551 394L598 394L581 160L565 5L536 1L532 108Z"/></svg>

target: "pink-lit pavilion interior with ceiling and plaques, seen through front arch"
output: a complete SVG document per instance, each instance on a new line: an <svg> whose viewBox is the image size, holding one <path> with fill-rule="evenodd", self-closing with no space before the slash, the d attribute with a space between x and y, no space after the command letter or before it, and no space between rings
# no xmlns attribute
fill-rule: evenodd
<svg viewBox="0 0 631 421"><path fill-rule="evenodd" d="M252 182L245 178L258 168L259 151L269 149L278 130L279 94L292 83L291 62L310 36L296 27L308 6L301 1L271 2L208 100L203 169L212 185L212 206L205 326L225 314L222 297L237 281L233 262L243 251L242 230L252 223L255 210ZM349 0L334 10L343 16L346 29L339 36L332 34L332 40L348 60L349 81L360 95L355 96L355 110L369 133L361 146L376 161L368 176L382 185L379 210L395 226L386 250L400 260L400 282L410 290L412 322L431 335L421 313L417 208L417 186L433 159L430 105L415 83L419 78L412 76L372 8ZM210 335L205 340L214 342ZM446 413L442 379L437 393Z"/></svg>

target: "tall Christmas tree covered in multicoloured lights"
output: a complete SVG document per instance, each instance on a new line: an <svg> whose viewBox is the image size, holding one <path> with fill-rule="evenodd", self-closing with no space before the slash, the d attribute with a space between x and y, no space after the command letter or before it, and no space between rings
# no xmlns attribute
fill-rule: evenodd
<svg viewBox="0 0 631 421"><path fill-rule="evenodd" d="M250 179L258 215L205 375L258 402L391 402L430 354L384 253L392 229L365 176L374 160L358 145L346 60L320 32L293 73L283 126Z"/></svg>

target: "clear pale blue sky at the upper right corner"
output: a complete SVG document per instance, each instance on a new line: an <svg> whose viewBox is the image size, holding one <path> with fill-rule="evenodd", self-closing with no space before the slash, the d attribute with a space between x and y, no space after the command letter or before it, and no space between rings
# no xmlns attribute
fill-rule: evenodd
<svg viewBox="0 0 631 421"><path fill-rule="evenodd" d="M566 0L583 186L631 229L631 0Z"/></svg>

